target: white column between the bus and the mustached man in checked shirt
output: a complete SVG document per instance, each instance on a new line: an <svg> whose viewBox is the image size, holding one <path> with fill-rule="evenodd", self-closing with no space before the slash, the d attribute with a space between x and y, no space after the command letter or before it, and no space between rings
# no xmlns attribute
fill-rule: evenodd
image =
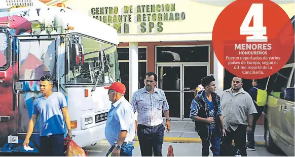
<svg viewBox="0 0 295 157"><path fill-rule="evenodd" d="M138 90L138 43L129 43L129 101Z"/></svg>

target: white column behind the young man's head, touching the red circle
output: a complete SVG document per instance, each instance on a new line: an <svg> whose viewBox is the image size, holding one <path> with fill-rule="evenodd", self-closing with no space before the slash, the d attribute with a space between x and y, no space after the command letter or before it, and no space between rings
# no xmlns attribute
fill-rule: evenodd
<svg viewBox="0 0 295 157"><path fill-rule="evenodd" d="M215 92L220 96L224 91L224 67L220 64L219 60L217 59L215 53L213 58L213 71L214 71L214 78L215 78Z"/></svg>

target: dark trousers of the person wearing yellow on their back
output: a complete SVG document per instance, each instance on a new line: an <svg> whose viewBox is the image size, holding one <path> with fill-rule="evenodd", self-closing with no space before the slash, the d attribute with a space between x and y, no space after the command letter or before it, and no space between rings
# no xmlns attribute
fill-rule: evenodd
<svg viewBox="0 0 295 157"><path fill-rule="evenodd" d="M254 117L253 117L252 131L247 133L247 141L248 141L247 145L251 148L254 148L254 145L255 145L254 132L256 128L256 121L259 119L264 109L264 106L255 105L255 107L256 107L257 113L254 114Z"/></svg>

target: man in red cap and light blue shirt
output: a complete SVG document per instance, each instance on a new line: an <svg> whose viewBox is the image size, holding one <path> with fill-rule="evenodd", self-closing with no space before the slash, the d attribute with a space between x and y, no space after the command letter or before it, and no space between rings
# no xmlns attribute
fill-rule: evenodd
<svg viewBox="0 0 295 157"><path fill-rule="evenodd" d="M126 87L121 82L114 82L108 90L112 106L108 112L105 137L111 145L106 156L132 156L133 138L135 136L135 119L133 108L124 98Z"/></svg>

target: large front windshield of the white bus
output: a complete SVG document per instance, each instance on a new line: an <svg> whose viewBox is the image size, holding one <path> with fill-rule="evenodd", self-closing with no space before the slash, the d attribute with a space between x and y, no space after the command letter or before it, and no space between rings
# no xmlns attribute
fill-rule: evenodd
<svg viewBox="0 0 295 157"><path fill-rule="evenodd" d="M120 80L117 47L82 35L69 35L67 57L71 58L71 44L81 42L84 50L84 62L77 65L69 59L68 84L112 83ZM68 68L67 68L68 69ZM100 75L100 77L99 77ZM98 78L99 77L99 78Z"/></svg>

